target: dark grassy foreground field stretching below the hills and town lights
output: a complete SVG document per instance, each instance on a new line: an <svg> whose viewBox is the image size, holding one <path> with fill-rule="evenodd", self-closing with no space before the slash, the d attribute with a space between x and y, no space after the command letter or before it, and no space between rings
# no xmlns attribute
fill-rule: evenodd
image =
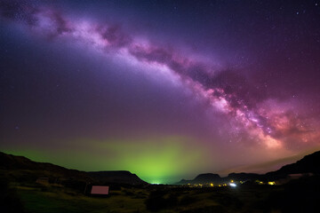
<svg viewBox="0 0 320 213"><path fill-rule="evenodd" d="M318 177L287 185L235 188L116 186L108 197L90 197L62 185L27 185L5 179L1 189L4 212L320 212Z"/></svg>

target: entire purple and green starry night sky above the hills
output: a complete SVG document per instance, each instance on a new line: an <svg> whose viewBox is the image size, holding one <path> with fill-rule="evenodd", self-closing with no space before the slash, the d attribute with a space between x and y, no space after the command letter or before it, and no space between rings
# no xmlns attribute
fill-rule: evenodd
<svg viewBox="0 0 320 213"><path fill-rule="evenodd" d="M320 149L320 1L0 1L0 149L150 183Z"/></svg>

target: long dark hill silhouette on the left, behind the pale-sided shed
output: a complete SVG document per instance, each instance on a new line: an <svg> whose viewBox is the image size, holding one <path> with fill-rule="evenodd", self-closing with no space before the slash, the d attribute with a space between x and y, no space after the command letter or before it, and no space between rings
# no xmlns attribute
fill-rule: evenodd
<svg viewBox="0 0 320 213"><path fill-rule="evenodd" d="M129 171L85 172L68 170L48 162L33 162L23 156L0 152L0 175L12 180L34 182L38 177L49 177L50 181L90 182L116 184L147 184Z"/></svg>

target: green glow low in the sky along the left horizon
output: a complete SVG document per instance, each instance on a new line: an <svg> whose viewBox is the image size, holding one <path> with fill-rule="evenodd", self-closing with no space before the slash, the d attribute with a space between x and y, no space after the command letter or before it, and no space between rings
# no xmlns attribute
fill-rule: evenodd
<svg viewBox="0 0 320 213"><path fill-rule="evenodd" d="M70 146L71 144L71 146ZM68 147L3 148L5 153L23 155L36 162L76 170L129 170L153 184L170 184L201 171L206 154L188 138L169 137L143 140L77 139ZM192 172L192 173L191 173Z"/></svg>

